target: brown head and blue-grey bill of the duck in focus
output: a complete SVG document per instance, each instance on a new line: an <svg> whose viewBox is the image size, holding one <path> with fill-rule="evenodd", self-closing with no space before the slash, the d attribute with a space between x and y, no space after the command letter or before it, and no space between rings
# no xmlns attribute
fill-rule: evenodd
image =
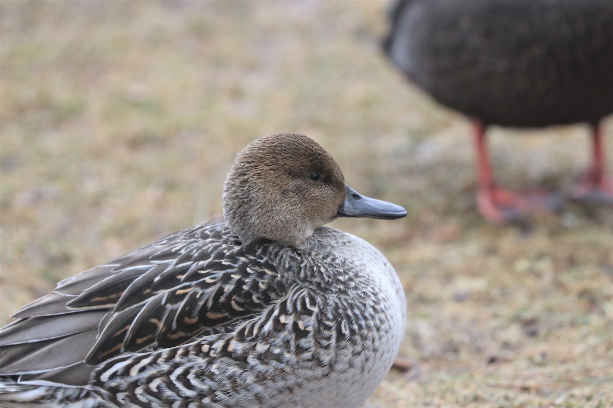
<svg viewBox="0 0 613 408"><path fill-rule="evenodd" d="M357 193L326 150L307 136L291 134L256 139L237 155L222 205L243 243L265 238L292 247L337 217L406 215L400 206Z"/></svg>

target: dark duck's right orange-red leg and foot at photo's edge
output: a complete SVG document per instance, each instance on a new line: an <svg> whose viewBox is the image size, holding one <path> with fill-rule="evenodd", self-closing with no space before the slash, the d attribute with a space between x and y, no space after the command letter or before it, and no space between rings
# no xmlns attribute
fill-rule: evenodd
<svg viewBox="0 0 613 408"><path fill-rule="evenodd" d="M602 128L592 126L592 165L581 181L571 190L571 197L579 201L613 204L613 179L604 173Z"/></svg>

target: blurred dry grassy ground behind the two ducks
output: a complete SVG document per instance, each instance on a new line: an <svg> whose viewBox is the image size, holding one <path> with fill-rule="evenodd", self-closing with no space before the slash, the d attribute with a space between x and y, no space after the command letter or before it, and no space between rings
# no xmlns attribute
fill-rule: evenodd
<svg viewBox="0 0 613 408"><path fill-rule="evenodd" d="M218 217L238 150L304 133L357 191L408 210L332 224L386 254L408 301L407 370L367 407L612 406L611 209L482 220L468 121L379 50L389 5L3 1L0 323ZM588 161L584 125L490 134L504 185L565 190Z"/></svg>

